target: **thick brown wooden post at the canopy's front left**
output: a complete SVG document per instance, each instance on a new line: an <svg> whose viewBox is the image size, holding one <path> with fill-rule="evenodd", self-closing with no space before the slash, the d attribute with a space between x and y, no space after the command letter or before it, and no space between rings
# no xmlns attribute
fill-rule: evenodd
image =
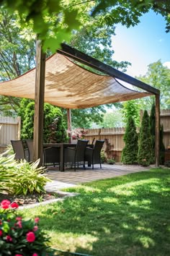
<svg viewBox="0 0 170 256"><path fill-rule="evenodd" d="M45 90L45 54L42 53L41 41L37 40L33 159L34 161L36 161L37 159L40 158L39 166L42 166L44 90Z"/></svg>

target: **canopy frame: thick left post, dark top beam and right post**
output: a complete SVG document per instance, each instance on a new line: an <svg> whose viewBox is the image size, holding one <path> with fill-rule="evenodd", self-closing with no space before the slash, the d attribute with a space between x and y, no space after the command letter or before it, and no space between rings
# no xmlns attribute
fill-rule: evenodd
<svg viewBox="0 0 170 256"><path fill-rule="evenodd" d="M71 59L79 61L81 64L97 69L100 72L109 74L130 85L143 89L152 93L156 97L156 166L159 166L159 130L160 130L160 91L153 88L151 85L130 77L128 74L120 72L107 64L92 58L91 56L82 53L81 51L66 45L61 44L61 49L57 52ZM37 40L36 45L36 79L35 79L35 125L34 125L34 160L40 158L40 165L42 164L42 143L43 143L43 105L44 105L44 86L45 86L45 54L42 53L41 42Z"/></svg>

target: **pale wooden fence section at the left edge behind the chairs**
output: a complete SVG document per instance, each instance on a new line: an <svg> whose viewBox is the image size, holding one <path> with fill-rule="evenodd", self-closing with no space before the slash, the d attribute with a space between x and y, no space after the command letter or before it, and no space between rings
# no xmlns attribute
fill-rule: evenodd
<svg viewBox="0 0 170 256"><path fill-rule="evenodd" d="M19 140L21 132L21 118L0 116L0 153L4 152L11 140Z"/></svg>

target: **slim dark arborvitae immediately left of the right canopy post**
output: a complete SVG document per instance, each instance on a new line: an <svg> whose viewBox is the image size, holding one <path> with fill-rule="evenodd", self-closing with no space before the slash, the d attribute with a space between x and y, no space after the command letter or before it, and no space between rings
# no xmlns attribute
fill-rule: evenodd
<svg viewBox="0 0 170 256"><path fill-rule="evenodd" d="M152 149L152 159L151 163L155 163L155 137L156 137L156 106L153 103L151 108L151 115L149 118L150 132L151 132L151 149Z"/></svg>

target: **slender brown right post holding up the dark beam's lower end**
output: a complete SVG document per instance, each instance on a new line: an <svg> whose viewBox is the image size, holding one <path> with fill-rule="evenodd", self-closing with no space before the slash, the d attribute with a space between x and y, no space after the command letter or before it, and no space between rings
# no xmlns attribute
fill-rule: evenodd
<svg viewBox="0 0 170 256"><path fill-rule="evenodd" d="M156 97L156 137L155 137L155 155L156 155L156 167L159 166L160 159L160 95Z"/></svg>

